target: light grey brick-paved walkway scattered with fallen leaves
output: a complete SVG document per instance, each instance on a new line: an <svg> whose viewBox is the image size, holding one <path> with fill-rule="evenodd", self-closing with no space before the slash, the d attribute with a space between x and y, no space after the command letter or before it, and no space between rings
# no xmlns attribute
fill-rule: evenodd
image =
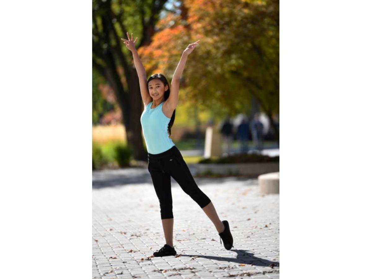
<svg viewBox="0 0 372 279"><path fill-rule="evenodd" d="M256 179L195 179L234 247L225 250L202 209L171 178L176 256L165 244L147 169L93 172L93 278L279 278L279 195L261 195Z"/></svg>

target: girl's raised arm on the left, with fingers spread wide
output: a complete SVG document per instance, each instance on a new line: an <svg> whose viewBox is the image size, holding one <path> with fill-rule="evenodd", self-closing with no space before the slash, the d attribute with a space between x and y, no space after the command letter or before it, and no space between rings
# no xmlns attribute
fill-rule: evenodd
<svg viewBox="0 0 372 279"><path fill-rule="evenodd" d="M140 56L138 55L137 49L134 44L138 38L136 38L133 41L133 33L131 36L132 38L129 38L128 32L126 32L126 35L128 36L128 40L122 39L122 41L124 42L126 48L128 48L133 54L134 65L137 70L138 80L140 81L141 97L142 97L142 101L144 102L144 105L146 106L148 103L151 102L152 98L147 88L146 70L145 70L145 67L142 65Z"/></svg>

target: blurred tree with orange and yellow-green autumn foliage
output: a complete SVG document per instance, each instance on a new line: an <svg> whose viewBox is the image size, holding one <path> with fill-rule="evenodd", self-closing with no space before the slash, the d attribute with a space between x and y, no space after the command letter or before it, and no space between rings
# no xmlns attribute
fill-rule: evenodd
<svg viewBox="0 0 372 279"><path fill-rule="evenodd" d="M273 125L279 113L279 1L185 0L157 24L139 49L145 67L171 74L184 45L200 40L187 59L179 99L212 114L247 112L259 100Z"/></svg>

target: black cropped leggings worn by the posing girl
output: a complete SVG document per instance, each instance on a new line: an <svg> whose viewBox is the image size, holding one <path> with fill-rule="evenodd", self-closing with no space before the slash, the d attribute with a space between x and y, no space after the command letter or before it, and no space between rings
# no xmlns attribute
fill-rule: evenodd
<svg viewBox="0 0 372 279"><path fill-rule="evenodd" d="M211 202L208 196L196 185L189 167L176 145L163 153L148 153L148 171L159 199L161 219L173 218L170 177L173 177L182 190L201 208Z"/></svg>

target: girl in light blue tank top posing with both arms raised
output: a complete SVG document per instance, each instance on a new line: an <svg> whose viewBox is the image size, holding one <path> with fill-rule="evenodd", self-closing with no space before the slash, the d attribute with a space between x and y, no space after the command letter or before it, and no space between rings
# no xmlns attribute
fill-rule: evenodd
<svg viewBox="0 0 372 279"><path fill-rule="evenodd" d="M220 236L220 242L222 238L224 247L230 250L233 247L233 241L229 223L227 220L221 222L213 203L196 185L180 151L169 138L178 102L180 77L185 68L187 56L193 51L199 41L188 45L183 51L181 60L173 74L170 87L166 77L162 74L153 74L147 79L145 68L135 48L137 38L133 41L133 33L131 38L129 38L128 32L126 35L128 39L122 39L122 41L133 54L134 64L140 80L141 96L145 107L141 115L141 125L148 151L148 171L159 199L161 222L166 240L166 244L160 250L154 252L154 256L176 255L176 250L173 247L170 177L173 177L182 190L203 209L213 222Z"/></svg>

